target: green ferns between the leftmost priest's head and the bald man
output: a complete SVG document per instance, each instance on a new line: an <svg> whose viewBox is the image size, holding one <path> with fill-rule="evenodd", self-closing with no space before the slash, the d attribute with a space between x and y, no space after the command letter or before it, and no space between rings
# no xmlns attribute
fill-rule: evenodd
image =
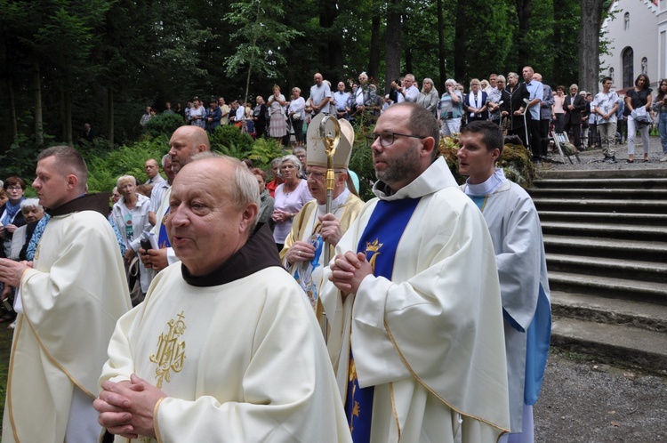
<svg viewBox="0 0 667 443"><path fill-rule="evenodd" d="M101 157L88 157L88 189L91 192L110 191L121 175L133 175L139 181L147 181L144 163L149 158L159 162L169 150L169 139L160 135L155 139L138 141L131 146L108 151Z"/></svg>

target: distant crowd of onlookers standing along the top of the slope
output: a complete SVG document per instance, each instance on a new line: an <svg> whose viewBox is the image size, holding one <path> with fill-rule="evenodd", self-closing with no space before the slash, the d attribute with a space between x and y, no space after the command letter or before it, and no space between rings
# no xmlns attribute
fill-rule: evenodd
<svg viewBox="0 0 667 443"><path fill-rule="evenodd" d="M661 117L663 113L667 116L664 92L659 88L655 99L649 100L652 90L646 74L639 75L635 87L625 95L615 92L611 77L603 79L599 93L579 91L579 86L574 84L568 88L558 85L552 90L550 85L542 83L542 76L528 66L520 76L510 72L506 77L491 74L481 81L473 78L467 92L461 83L447 79L441 95L428 77L422 80L420 90L412 74L392 81L390 93L386 95L378 93L366 73L359 75L358 82L351 83L350 92L343 81L336 84L333 92L332 83L319 73L315 74L314 83L308 99L301 97L298 87L293 87L290 96L285 98L280 87L274 85L272 95L266 101L257 96L254 106L240 99L227 106L220 97L213 98L210 107L205 109L195 98L186 108L178 105L175 111L166 103L165 112L177 112L189 125L209 132L219 125L233 124L253 137L270 136L284 145L291 144L293 134L295 146L302 147L309 121L319 113L366 124L376 121L391 105L408 101L428 109L438 120L443 136L453 136L476 120L492 121L500 125L505 134L517 136L530 149L536 163L548 159L552 133L566 133L580 151L601 148L604 155L601 160L608 163L616 163L615 145L624 140L629 151L627 163L633 163L638 131L642 136L644 161L648 161L645 116L649 116L648 124L655 122L661 134L663 157L660 161L667 161L667 117ZM147 107L141 125L152 115L155 112Z"/></svg>

